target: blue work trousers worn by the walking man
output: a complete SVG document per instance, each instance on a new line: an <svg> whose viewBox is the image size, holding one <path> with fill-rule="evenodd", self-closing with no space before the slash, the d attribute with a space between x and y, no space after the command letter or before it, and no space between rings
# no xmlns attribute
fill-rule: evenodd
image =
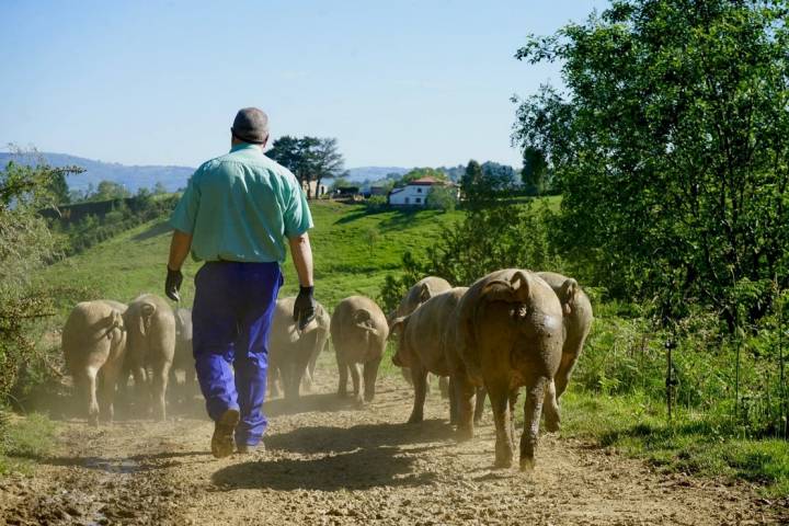
<svg viewBox="0 0 789 526"><path fill-rule="evenodd" d="M208 262L195 276L197 379L211 420L228 409L241 413L237 444L258 445L265 432L268 331L282 283L276 262Z"/></svg>

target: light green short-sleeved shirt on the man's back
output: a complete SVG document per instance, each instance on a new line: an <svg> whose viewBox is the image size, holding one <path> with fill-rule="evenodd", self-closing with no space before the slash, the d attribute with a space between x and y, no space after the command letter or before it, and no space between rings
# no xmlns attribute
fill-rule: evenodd
<svg viewBox="0 0 789 526"><path fill-rule="evenodd" d="M285 261L285 237L312 228L298 181L254 145L237 145L190 179L170 218L195 261Z"/></svg>

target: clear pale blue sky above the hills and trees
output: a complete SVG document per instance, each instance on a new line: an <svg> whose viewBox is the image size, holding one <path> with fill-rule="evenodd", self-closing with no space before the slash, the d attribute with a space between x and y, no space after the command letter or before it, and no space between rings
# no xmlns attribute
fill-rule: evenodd
<svg viewBox="0 0 789 526"><path fill-rule="evenodd" d="M519 165L510 98L560 79L513 54L607 4L2 0L0 145L197 165L255 105L347 167Z"/></svg>

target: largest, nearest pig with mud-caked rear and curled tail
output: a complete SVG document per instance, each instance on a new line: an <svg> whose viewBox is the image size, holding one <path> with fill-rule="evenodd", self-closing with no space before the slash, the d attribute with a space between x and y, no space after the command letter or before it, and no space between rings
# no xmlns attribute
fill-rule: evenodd
<svg viewBox="0 0 789 526"><path fill-rule="evenodd" d="M473 436L474 387L490 396L496 427L495 466L512 466L513 409L526 387L521 469L534 467L540 413L561 361L562 308L553 290L530 271L507 268L477 281L460 299L447 346L458 401L458 437ZM551 400L547 414L559 421Z"/></svg>

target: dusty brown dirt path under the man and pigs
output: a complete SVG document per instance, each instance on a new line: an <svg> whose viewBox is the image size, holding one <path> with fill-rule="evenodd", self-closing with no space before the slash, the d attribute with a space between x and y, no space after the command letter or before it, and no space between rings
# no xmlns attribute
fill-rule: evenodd
<svg viewBox="0 0 789 526"><path fill-rule="evenodd" d="M332 376L298 411L267 402L265 453L215 460L201 416L93 430L62 424L35 477L0 480L5 524L439 525L779 524L789 516L746 487L659 474L588 444L544 436L534 473L492 470L490 416L457 445L445 402L403 424L411 391L380 382L363 410ZM2 522L0 522L2 524Z"/></svg>

